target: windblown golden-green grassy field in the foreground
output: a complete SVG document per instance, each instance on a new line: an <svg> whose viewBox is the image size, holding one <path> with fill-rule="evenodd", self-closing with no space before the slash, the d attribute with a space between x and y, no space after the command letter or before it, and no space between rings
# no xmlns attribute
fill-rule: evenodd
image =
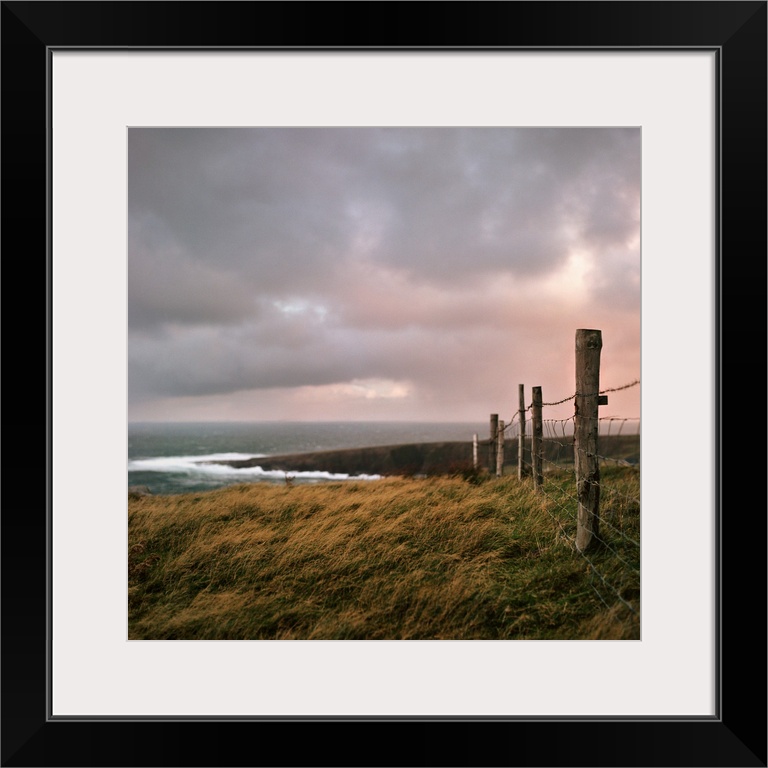
<svg viewBox="0 0 768 768"><path fill-rule="evenodd" d="M639 472L601 473L587 557L569 472L129 494L129 638L639 639Z"/></svg>

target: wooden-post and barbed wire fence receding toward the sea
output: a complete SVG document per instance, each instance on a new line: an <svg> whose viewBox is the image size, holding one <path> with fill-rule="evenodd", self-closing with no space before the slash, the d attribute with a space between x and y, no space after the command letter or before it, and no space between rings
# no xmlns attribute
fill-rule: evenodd
<svg viewBox="0 0 768 768"><path fill-rule="evenodd" d="M626 443L620 438L639 438L640 419L600 417L597 407L607 404L609 393L635 387L640 379L601 389L601 347L600 331L577 331L577 391L567 397L542 402L541 387L534 387L532 401L526 405L523 385L519 385L520 407L511 418L497 421L495 432L491 430L489 458L493 456L498 463L489 462L488 469L497 477L503 474L497 451L505 437L517 445L518 479L533 479L536 492L547 500L544 508L557 525L558 538L587 563L597 597L608 608L620 604L639 616L640 456L638 453L635 461L626 451L623 456L607 455L609 451L601 451L599 441L612 441L621 450L622 443ZM584 392L579 391L582 388ZM575 410L572 417L541 418L542 408L571 400ZM623 432L633 422L637 431ZM514 462L513 457L510 459ZM601 467L605 476L601 476ZM573 474L576 483L569 491L568 478Z"/></svg>

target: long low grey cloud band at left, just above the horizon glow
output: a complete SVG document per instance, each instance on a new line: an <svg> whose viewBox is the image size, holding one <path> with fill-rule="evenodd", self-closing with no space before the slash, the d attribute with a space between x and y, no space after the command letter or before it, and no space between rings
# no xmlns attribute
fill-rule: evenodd
<svg viewBox="0 0 768 768"><path fill-rule="evenodd" d="M361 334L328 333L311 326L295 327L292 335L279 338L265 337L260 329L232 332L204 326L136 335L129 363L142 375L131 386L136 397L190 397L353 379L406 380L414 375L437 386L446 375L466 373L466 360L455 347L471 335L465 331L436 340L423 328ZM486 335L482 344L491 341Z"/></svg>

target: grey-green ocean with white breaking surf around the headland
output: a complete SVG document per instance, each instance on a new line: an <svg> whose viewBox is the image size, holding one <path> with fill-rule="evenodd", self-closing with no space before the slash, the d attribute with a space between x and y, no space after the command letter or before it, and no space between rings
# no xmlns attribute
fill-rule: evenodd
<svg viewBox="0 0 768 768"><path fill-rule="evenodd" d="M128 425L128 485L144 486L153 494L177 494L238 483L285 482L281 471L200 462L401 443L471 441L473 434L483 439L487 431L485 423L459 422L134 422ZM350 478L327 472L292 472L291 476L298 483Z"/></svg>

